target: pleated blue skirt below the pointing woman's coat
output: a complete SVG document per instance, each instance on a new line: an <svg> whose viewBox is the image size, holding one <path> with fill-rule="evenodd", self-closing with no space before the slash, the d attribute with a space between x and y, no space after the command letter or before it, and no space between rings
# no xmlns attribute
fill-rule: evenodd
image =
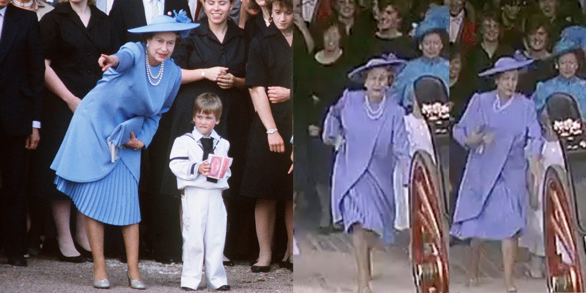
<svg viewBox="0 0 586 293"><path fill-rule="evenodd" d="M138 182L121 160L100 180L79 183L56 176L54 183L91 219L117 226L141 222Z"/></svg>

